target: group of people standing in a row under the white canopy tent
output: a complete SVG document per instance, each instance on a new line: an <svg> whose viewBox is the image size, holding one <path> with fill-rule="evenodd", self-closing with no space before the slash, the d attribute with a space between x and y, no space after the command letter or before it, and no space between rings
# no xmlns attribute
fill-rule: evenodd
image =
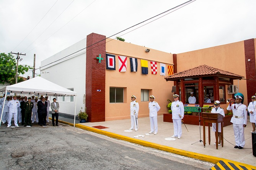
<svg viewBox="0 0 256 170"><path fill-rule="evenodd" d="M44 98L41 95L39 100L35 96L27 98L26 96L16 95L13 97L7 96L5 102L3 102L3 99L4 97L0 99L0 111L2 112L2 108L4 108L2 122L8 122L7 127L10 127L12 117L14 118L15 127L19 127L18 121L24 126L32 126L31 121L32 123L36 121L41 126L46 125L46 122L49 123L49 107L51 103L48 100L48 96ZM52 116L56 118L56 125L58 126L59 103L56 102L56 98L53 100L54 102L51 106ZM5 103L4 107L3 103ZM55 125L54 118L52 124Z"/></svg>

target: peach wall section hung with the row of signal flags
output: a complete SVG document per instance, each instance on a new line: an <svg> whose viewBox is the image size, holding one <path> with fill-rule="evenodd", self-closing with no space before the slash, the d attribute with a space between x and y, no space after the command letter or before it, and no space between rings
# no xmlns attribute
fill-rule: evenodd
<svg viewBox="0 0 256 170"><path fill-rule="evenodd" d="M141 101L141 89L152 90L150 95L155 96L161 109L158 115L167 113L167 99L173 99L171 88L173 82L166 82L164 76L160 75L160 63L173 64L173 55L163 51L153 50L145 52L147 47L134 45L119 40L108 38L106 40L106 53L116 55L116 70L106 69L106 121L117 119L130 119L130 96L135 95L139 102L139 117L149 116L148 102ZM118 55L127 56L126 72L119 72ZM129 57L138 59L138 71L130 72ZM148 75L143 75L140 66L140 59L148 60ZM151 74L150 61L157 61L157 74ZM167 66L166 66L167 70ZM166 74L167 76L167 74ZM124 89L124 103L109 103L109 87L122 87Z"/></svg>

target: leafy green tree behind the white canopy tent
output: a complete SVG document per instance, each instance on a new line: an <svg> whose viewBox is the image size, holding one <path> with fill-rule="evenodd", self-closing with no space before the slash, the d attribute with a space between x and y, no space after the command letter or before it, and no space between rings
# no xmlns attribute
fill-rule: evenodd
<svg viewBox="0 0 256 170"><path fill-rule="evenodd" d="M16 76L16 58L11 55L11 53L5 54L0 53L0 83L10 83L15 84ZM33 69L33 67L27 65L18 66L18 75L24 74L28 69ZM14 81L13 81L14 80ZM18 83L23 82L24 80L18 77Z"/></svg>

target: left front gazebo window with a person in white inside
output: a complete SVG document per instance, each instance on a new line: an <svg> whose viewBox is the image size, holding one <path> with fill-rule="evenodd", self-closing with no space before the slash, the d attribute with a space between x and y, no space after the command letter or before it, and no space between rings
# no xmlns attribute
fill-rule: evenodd
<svg viewBox="0 0 256 170"><path fill-rule="evenodd" d="M186 103L198 103L198 83L185 83L185 95Z"/></svg>

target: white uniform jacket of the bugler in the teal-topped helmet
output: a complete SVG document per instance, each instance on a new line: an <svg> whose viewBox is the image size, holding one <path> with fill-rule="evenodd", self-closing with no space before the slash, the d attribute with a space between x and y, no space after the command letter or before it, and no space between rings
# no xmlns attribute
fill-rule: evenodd
<svg viewBox="0 0 256 170"><path fill-rule="evenodd" d="M244 104L232 104L231 107L228 104L227 110L232 109L233 117L230 122L237 125L246 125L247 123L247 107Z"/></svg>

